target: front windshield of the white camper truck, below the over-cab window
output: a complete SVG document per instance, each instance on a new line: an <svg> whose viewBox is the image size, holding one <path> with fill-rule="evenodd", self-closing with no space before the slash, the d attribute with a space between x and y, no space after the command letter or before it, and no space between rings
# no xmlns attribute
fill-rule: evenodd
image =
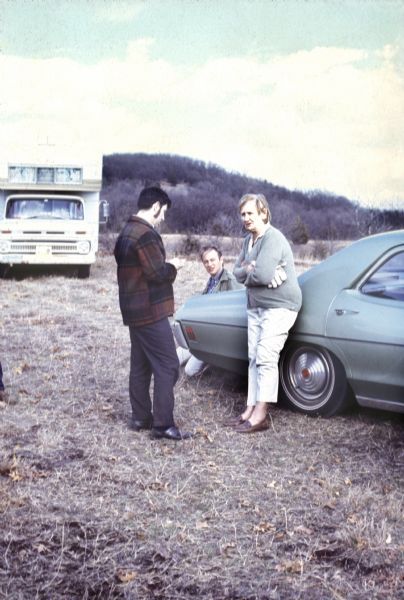
<svg viewBox="0 0 404 600"><path fill-rule="evenodd" d="M10 198L7 219L84 219L83 203L76 198Z"/></svg>

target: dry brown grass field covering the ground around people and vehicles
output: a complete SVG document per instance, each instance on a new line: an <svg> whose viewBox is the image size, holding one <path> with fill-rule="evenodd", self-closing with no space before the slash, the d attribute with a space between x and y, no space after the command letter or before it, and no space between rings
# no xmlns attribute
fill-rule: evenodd
<svg viewBox="0 0 404 600"><path fill-rule="evenodd" d="M189 261L177 304L204 281ZM404 597L402 416L275 407L241 436L221 421L245 389L208 370L176 389L195 437L151 441L127 428L113 258L0 290L1 598Z"/></svg>

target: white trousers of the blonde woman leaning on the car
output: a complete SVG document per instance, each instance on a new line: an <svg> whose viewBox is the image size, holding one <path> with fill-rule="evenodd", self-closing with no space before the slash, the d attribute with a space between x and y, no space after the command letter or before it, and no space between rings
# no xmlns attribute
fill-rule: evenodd
<svg viewBox="0 0 404 600"><path fill-rule="evenodd" d="M250 308L248 314L248 398L257 402L277 402L279 354L297 312L287 308Z"/></svg>

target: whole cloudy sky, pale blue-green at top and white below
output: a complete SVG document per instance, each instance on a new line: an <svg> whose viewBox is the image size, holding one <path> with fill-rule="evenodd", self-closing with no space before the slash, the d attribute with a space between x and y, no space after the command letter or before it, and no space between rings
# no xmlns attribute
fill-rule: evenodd
<svg viewBox="0 0 404 600"><path fill-rule="evenodd" d="M404 207L404 0L0 0L0 144Z"/></svg>

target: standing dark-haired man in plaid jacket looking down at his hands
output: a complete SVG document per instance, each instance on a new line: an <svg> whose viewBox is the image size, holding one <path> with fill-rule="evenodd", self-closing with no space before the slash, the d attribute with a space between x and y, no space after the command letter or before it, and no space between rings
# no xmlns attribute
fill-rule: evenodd
<svg viewBox="0 0 404 600"><path fill-rule="evenodd" d="M179 363L168 320L174 312L172 284L182 261L174 258L166 262L163 240L155 229L170 206L171 200L162 189L144 188L139 195L138 212L121 231L114 254L119 305L131 340L131 429L151 429L155 439L182 440L190 434L181 432L174 423Z"/></svg>

